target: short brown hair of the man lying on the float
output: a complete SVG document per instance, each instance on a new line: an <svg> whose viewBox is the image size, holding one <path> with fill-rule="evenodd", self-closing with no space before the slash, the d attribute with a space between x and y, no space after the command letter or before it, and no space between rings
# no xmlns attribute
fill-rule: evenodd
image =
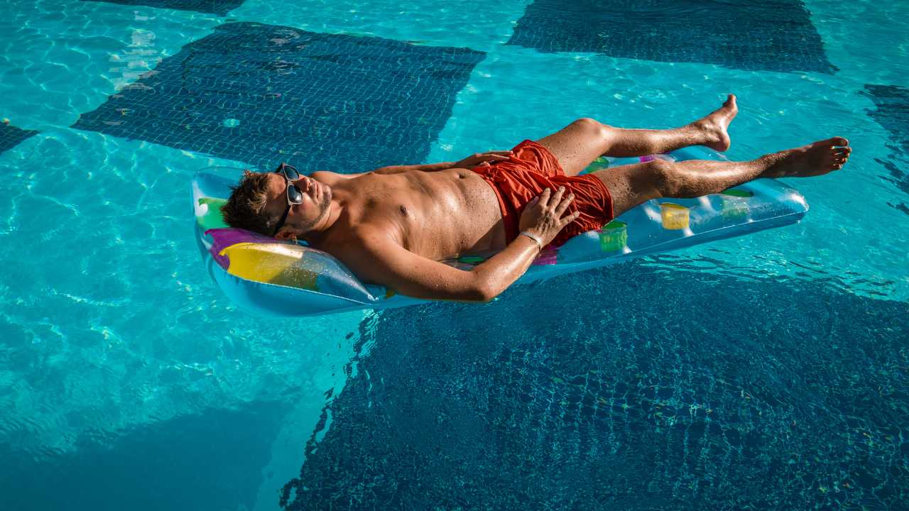
<svg viewBox="0 0 909 511"><path fill-rule="evenodd" d="M272 235L277 218L265 212L268 175L245 171L240 183L231 186L230 198L221 206L221 215L231 227Z"/></svg>

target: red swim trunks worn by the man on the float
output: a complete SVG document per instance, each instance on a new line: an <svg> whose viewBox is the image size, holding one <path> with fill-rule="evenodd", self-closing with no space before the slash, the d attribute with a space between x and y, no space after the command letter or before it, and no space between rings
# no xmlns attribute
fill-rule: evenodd
<svg viewBox="0 0 909 511"><path fill-rule="evenodd" d="M511 243L518 236L518 222L524 206L546 188L564 186L564 195L574 194L565 213L581 213L555 236L551 247L563 245L574 235L599 229L613 219L613 197L603 181L595 175L565 175L562 165L543 145L533 140L515 145L514 155L490 166L472 168L493 186L502 209L505 239Z"/></svg>

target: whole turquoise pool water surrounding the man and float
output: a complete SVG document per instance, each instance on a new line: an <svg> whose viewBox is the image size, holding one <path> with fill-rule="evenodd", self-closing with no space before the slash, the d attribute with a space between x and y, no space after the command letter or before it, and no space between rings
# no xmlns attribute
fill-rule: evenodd
<svg viewBox="0 0 909 511"><path fill-rule="evenodd" d="M909 7L423 0L0 5L11 509L899 509ZM743 20L747 20L746 22ZM844 135L799 225L289 320L199 261L210 165L456 160L592 116L733 159Z"/></svg>

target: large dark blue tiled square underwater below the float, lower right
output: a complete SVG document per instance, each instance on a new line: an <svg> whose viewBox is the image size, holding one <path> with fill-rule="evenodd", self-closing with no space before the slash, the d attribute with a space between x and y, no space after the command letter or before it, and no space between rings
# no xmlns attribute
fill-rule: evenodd
<svg viewBox="0 0 909 511"><path fill-rule="evenodd" d="M649 264L365 322L282 506L907 502L904 303Z"/></svg>

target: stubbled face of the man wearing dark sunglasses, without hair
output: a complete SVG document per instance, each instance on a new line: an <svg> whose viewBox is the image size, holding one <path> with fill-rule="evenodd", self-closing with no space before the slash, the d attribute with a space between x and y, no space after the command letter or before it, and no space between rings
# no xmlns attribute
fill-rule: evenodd
<svg viewBox="0 0 909 511"><path fill-rule="evenodd" d="M332 201L332 189L309 176L289 183L284 175L268 175L268 202L265 212L275 220L281 218L287 209L287 186L295 186L303 195L303 203L290 206L284 225L275 235L277 238L289 238L305 235L317 225L325 215Z"/></svg>

